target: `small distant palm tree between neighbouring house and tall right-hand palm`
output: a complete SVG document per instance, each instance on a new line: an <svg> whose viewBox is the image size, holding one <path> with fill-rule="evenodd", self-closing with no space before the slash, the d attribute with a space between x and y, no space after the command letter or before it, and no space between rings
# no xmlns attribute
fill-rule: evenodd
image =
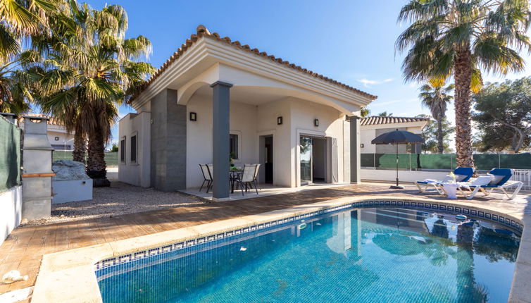
<svg viewBox="0 0 531 303"><path fill-rule="evenodd" d="M454 85L443 87L442 85L427 84L420 87L420 94L418 95L423 106L430 109L432 117L437 120L437 149L439 149L439 154L444 152L442 122L446 118L446 106L453 98L448 94L452 89L454 89Z"/></svg>

